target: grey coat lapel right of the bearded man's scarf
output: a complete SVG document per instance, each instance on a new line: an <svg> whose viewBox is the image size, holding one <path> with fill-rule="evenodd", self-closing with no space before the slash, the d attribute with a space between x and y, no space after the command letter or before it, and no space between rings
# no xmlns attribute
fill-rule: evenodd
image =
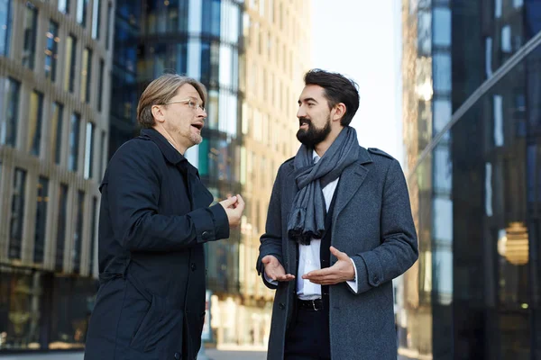
<svg viewBox="0 0 541 360"><path fill-rule="evenodd" d="M342 175L340 175L340 181L338 182L338 188L336 191L336 203L335 211L333 211L333 223L336 223L336 218L340 215L340 212L344 210L345 205L348 204L353 198L353 195L357 193L362 182L368 175L368 168L363 164L371 163L371 157L366 148L359 147L359 161L347 166L344 169Z"/></svg>

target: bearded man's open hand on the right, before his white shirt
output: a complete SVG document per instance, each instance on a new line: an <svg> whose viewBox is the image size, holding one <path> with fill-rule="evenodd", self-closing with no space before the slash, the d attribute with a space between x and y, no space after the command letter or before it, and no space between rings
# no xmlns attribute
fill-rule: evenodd
<svg viewBox="0 0 541 360"><path fill-rule="evenodd" d="M331 253L338 258L335 265L326 267L325 269L311 271L308 274L302 275L303 279L320 285L334 285L353 280L355 269L353 268L352 259L335 247L330 247L330 249Z"/></svg>

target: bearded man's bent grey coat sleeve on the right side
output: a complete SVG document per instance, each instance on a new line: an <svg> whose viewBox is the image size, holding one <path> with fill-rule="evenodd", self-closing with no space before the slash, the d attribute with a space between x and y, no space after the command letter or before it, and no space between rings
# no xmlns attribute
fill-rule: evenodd
<svg viewBox="0 0 541 360"><path fill-rule="evenodd" d="M395 159L385 177L381 203L381 245L352 257L357 268L357 294L402 275L417 261L417 234L408 185Z"/></svg>

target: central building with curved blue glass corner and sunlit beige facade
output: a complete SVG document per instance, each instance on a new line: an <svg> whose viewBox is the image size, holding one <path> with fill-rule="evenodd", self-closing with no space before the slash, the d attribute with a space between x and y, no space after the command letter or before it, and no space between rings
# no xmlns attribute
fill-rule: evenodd
<svg viewBox="0 0 541 360"><path fill-rule="evenodd" d="M152 79L195 77L207 88L208 117L203 142L186 157L215 201L242 193L247 203L240 229L206 248L212 296L204 339L217 347L265 348L269 336L273 293L254 265L274 175L298 148L308 10L308 0L116 3L109 156L139 133L136 107Z"/></svg>

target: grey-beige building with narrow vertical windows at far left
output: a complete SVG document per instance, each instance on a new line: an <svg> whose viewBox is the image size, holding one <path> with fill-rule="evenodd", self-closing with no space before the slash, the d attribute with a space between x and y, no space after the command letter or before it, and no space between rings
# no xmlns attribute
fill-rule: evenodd
<svg viewBox="0 0 541 360"><path fill-rule="evenodd" d="M0 1L0 354L84 347L113 6Z"/></svg>

